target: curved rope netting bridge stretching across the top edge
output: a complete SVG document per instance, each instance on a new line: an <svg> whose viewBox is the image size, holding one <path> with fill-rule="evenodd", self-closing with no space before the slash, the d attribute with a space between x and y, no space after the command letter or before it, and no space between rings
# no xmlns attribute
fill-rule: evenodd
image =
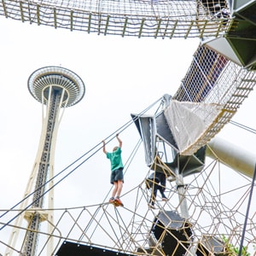
<svg viewBox="0 0 256 256"><path fill-rule="evenodd" d="M237 23L225 0L3 0L0 15L71 31L138 38L218 37Z"/></svg>

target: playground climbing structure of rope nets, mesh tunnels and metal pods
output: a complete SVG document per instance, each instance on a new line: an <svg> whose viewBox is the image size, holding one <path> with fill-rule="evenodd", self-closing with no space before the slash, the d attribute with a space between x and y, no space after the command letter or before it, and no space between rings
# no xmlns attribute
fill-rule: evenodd
<svg viewBox="0 0 256 256"><path fill-rule="evenodd" d="M124 210L108 203L55 209L55 224L46 220L51 230L36 230L44 237L38 255L44 255L51 238L55 255L229 255L230 245L241 245L241 208L251 189L251 180L242 174L253 177L253 168L237 174L239 186L218 183L214 188L212 181L224 174L216 173L218 158L209 145L256 82L256 46L247 47L255 40L255 7L253 1L2 1L0 15L38 25L122 37L201 38L177 93L163 97L161 111L132 114L148 173L166 172L170 180L169 201L160 202L157 212L148 209L151 195L142 180L124 195L136 198ZM155 148L161 158L155 157ZM205 158L207 150L212 163ZM245 246L251 250L255 223L255 214L247 218ZM22 229L19 224L15 228ZM35 233L34 228L28 231ZM21 252L20 246L7 247Z"/></svg>

